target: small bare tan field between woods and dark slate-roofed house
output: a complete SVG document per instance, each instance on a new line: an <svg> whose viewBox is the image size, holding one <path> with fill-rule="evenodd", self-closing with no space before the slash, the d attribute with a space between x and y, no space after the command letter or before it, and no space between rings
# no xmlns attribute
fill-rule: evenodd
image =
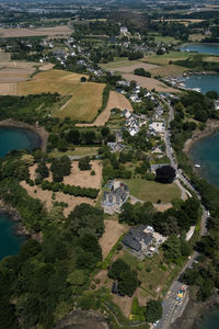
<svg viewBox="0 0 219 329"><path fill-rule="evenodd" d="M105 231L99 240L102 248L103 259L106 258L113 246L117 242L118 238L128 229L127 225L122 225L117 220L113 219L105 219L104 225Z"/></svg>

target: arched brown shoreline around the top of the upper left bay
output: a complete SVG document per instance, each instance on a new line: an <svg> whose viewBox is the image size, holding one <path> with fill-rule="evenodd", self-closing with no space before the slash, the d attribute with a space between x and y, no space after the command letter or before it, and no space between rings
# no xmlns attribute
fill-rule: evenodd
<svg viewBox="0 0 219 329"><path fill-rule="evenodd" d="M20 129L27 129L31 132L34 132L37 134L41 138L41 148L45 152L46 151L46 146L47 146L47 140L49 133L46 132L46 129L43 126L39 126L37 124L35 125L30 125L24 122L18 122L12 118L7 118L0 122L0 127L14 127L14 128L20 128Z"/></svg>

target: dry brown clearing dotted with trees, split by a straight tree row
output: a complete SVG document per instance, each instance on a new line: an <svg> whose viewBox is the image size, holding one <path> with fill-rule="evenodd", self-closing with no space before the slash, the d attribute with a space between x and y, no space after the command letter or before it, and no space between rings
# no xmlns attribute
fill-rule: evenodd
<svg viewBox="0 0 219 329"><path fill-rule="evenodd" d="M99 161L91 161L91 170L80 171L78 168L78 161L72 162L71 173L70 175L64 178L64 183L70 185L79 185L81 188L99 189L101 186L102 180L102 164ZM36 178L35 169L36 164L30 167L30 175L32 180ZM92 170L95 171L95 175L91 175ZM51 175L49 175L48 178L48 181L50 180ZM68 214L81 203L89 203L91 205L95 205L96 202L96 200L93 198L80 196L76 197L73 195L65 194L62 192L53 193L53 191L44 191L38 185L30 186L25 181L21 182L21 186L27 191L30 196L34 198L39 198L43 203L45 203L48 209L53 208L53 203L56 201L68 203L68 207L64 208L65 216L68 216ZM55 194L55 200L53 198L53 194Z"/></svg>

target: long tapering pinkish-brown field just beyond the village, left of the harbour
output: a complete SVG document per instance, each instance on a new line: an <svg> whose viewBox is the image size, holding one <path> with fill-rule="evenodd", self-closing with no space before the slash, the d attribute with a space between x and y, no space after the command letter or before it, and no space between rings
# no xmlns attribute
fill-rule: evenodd
<svg viewBox="0 0 219 329"><path fill-rule="evenodd" d="M154 88L155 91L160 92L178 92L177 89L168 87L163 82L152 78L146 78L135 75L123 75L123 77L128 81L136 80L141 87L147 88L148 90L152 90Z"/></svg>

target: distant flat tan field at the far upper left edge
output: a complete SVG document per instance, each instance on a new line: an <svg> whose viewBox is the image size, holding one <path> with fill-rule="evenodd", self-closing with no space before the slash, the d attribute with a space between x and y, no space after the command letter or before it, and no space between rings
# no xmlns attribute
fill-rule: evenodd
<svg viewBox="0 0 219 329"><path fill-rule="evenodd" d="M71 35L72 31L67 25L54 26L54 27L41 27L41 29L0 29L0 35L2 37L25 37L37 35Z"/></svg>

